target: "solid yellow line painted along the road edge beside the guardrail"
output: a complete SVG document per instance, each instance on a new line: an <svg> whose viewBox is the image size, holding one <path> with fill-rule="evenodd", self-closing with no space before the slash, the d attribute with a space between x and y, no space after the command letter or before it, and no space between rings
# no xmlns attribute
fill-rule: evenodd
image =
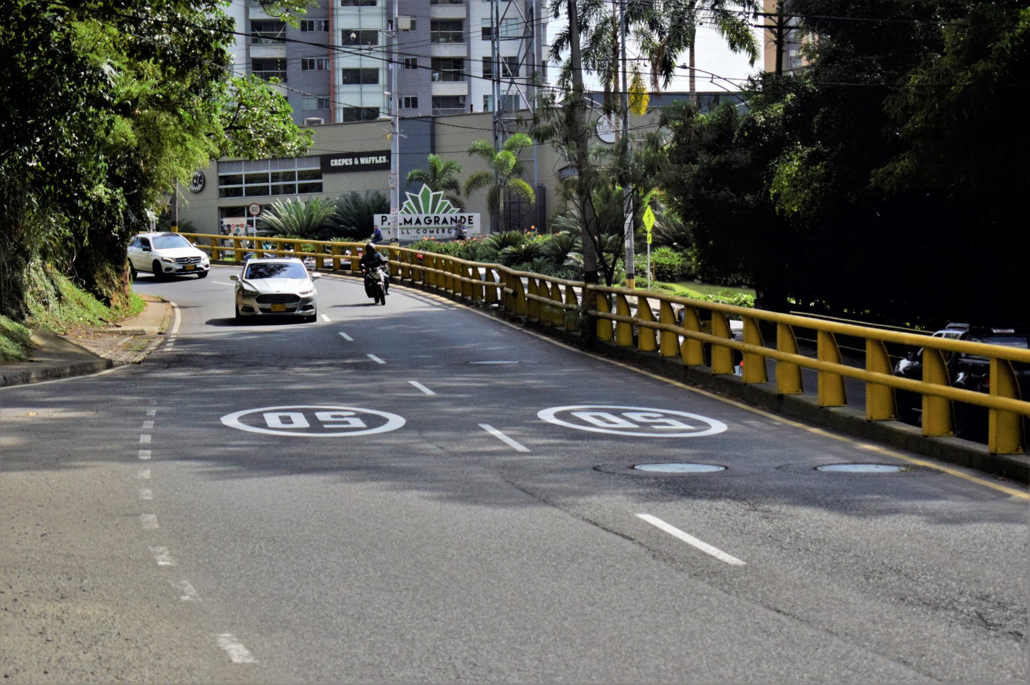
<svg viewBox="0 0 1030 685"><path fill-rule="evenodd" d="M989 487L992 490L997 490L999 492L1004 492L1005 494L1009 494L1009 495L1011 495L1014 498L1019 498L1021 500L1028 500L1028 501L1030 501L1030 492L1026 492L1024 490L1018 490L1016 488L1007 487L1005 485L999 485L998 483L992 483L991 481L985 480L984 478L980 478L977 476L971 476L971 475L969 475L967 473L963 473L962 471L959 471L958 469L952 469L951 467L943 467L943 466L934 464L932 461L927 461L925 459L917 459L917 458L912 457L912 456L905 456L904 454L898 454L897 452L889 450L889 449L887 449L885 447L880 447L878 445L869 445L868 443L860 443L857 440L854 440L853 438L848 438L848 437L845 437L845 436L838 436L838 435L835 435L833 433L829 433L828 431L825 431L825 430L820 429L820 427L816 427L816 426L813 426L813 425L806 425L806 424L801 423L799 421L794 421L794 420L791 420L789 418L784 418L783 416L779 416L777 414L772 414L770 412L767 412L767 411L764 411L764 410L761 410L761 409L757 409L755 407L750 407L750 406L748 406L748 405L746 405L746 404L744 404L742 402L736 402L735 400L730 400L728 398L724 398L724 397L722 397L720 395L716 395L715 392L710 392L708 390L702 390L699 387L692 387L690 385L687 385L686 383L681 383L678 380L673 380L672 378L665 378L664 376L659 376L658 374L651 373L650 371L645 371L644 369L638 369L637 367L630 366L628 364L624 364L624 363L618 362L616 359L610 359L610 358L608 358L606 356L603 356L600 354L595 354L594 352L588 352L586 350L582 350L582 349L579 349L577 347L573 347L572 345L568 345L568 344L565 344L565 343L563 343L563 342L561 342L559 340L554 340L553 338L549 338L549 337L547 337L547 336L545 336L545 335L543 335L541 333L537 333L536 331L529 331L528 329L525 329L525 328L523 328L521 326L517 326L515 323L512 323L511 321L506 321L506 320L504 320L504 319L502 319L502 318L500 318L497 316L493 316L492 314L488 314L486 312L482 312L482 311L479 311L477 309L472 309L471 307L462 306L462 305L460 305L460 304L458 304L458 303L450 300L449 298L445 298L443 296L437 295L436 293L430 293L430 292L421 290L421 289L418 289L418 288L413 288L413 289L416 289L421 295L428 296L428 297L434 298L436 300L439 300L441 302L445 302L447 304L453 305L454 307L457 307L459 309L464 309L464 310L470 311L470 312L472 312L474 314L478 314L479 316L483 316L483 317L488 318L490 320L503 323L504 326L507 326L510 329L514 329L516 331L521 331L522 333L528 334L528 335L530 335L530 336L533 336L535 338L539 338L540 340L543 340L545 342L549 342L552 345L557 345L558 347L563 347L564 349L571 350L573 352L577 352L579 354L584 354L586 356L589 356L591 358L597 359L599 362L605 362L606 364L611 364L611 365L620 367L622 369L626 369L628 371L632 371L634 373L647 376L649 378L653 378L655 380L659 380L659 381L661 381L663 383L668 383L670 385L675 385L676 387L682 388L684 390L689 390L690 392L696 392L697 395L703 396L706 398L710 398L712 400L718 400L719 402L725 403L725 404L730 405L732 407L736 407L737 409L743 409L745 411L749 411L752 414L758 414L759 416L763 416L763 417L768 418L770 420L774 420L774 421L776 421L778 423L785 423L785 424L793 426L795 429L800 429L802 431L808 431L809 433L812 433L812 434L815 434L815 435L818 435L818 436L822 436L824 438L830 438L831 440L836 440L838 442L851 443L851 444L855 445L856 447L859 447L860 449L866 449L866 450L869 450L869 451L879 452L879 453L881 453L881 454L883 454L885 456L890 456L890 457L893 457L895 459L899 459L901 461L907 461L908 464L912 464L914 466L925 467L927 469L932 469L934 471L939 471L941 473L948 474L949 476L955 476L956 478L961 478L962 480L969 481L970 483L976 483L977 485L983 485L985 487Z"/></svg>

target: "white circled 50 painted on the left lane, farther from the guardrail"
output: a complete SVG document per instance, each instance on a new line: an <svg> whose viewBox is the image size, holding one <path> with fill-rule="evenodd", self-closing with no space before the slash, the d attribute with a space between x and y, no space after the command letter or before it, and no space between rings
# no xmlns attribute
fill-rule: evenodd
<svg viewBox="0 0 1030 685"><path fill-rule="evenodd" d="M362 407L293 405L259 407L226 414L221 422L231 429L273 436L343 438L397 431L403 416Z"/></svg>

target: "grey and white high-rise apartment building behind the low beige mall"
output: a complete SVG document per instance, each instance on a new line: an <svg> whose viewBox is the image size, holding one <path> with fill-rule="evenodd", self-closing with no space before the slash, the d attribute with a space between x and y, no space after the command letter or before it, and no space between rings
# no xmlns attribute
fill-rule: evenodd
<svg viewBox="0 0 1030 685"><path fill-rule="evenodd" d="M402 116L525 108L546 80L545 0L398 0ZM291 27L254 0L227 12L235 69L275 85L300 125L389 112L393 0L319 0Z"/></svg>

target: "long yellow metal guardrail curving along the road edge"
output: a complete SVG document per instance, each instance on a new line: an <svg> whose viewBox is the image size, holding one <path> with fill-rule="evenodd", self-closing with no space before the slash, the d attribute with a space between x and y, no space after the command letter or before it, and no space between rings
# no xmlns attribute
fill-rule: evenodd
<svg viewBox="0 0 1030 685"><path fill-rule="evenodd" d="M218 260L224 252L233 252L237 261L242 260L246 252L310 256L315 260L317 268L337 271L343 261L349 260L347 270L352 272L359 270L356 253L364 246L362 243L286 238L181 235L210 240L210 245L197 246L209 250L213 260ZM233 241L233 244L230 247L222 241ZM260 247L263 243L274 243L275 248ZM316 250L322 251L300 251L298 248L302 244L313 245ZM347 249L354 254L353 259L346 255ZM775 381L781 395L803 392L801 369L812 369L817 372L817 397L822 407L847 405L845 378L864 381L865 417L869 421L897 418L895 389L917 392L922 397L924 436L954 435L954 402L985 407L988 409L988 448L992 453L1020 453L1026 446L1024 417L1030 416L1030 402L1023 401L1020 396L1012 363L1030 364L1030 350L734 307L662 293L586 285L515 271L499 264L469 262L405 247L383 246L379 249L389 259L390 275L402 282L444 290L472 303L496 304L515 316L569 332L579 331L583 320L590 320L583 317L587 314L595 321L597 339L604 342L621 347L636 345L643 352L655 352L666 357L679 356L687 366L710 367L713 374L733 374L733 350L737 350L744 357L745 383L767 382L765 358L775 359ZM422 254L421 261L418 254ZM674 306L683 308L682 323L678 322ZM711 316L711 320L708 316L702 320L702 311ZM730 316L737 316L744 321L743 342L732 338ZM775 326L775 347L765 346L759 322ZM815 358L799 353L795 328L816 331ZM837 335L865 341L864 369L842 363ZM708 359L703 343L711 345ZM887 343L923 348L922 380L892 375ZM990 359L989 393L952 387L946 362L946 354L950 352L964 352Z"/></svg>

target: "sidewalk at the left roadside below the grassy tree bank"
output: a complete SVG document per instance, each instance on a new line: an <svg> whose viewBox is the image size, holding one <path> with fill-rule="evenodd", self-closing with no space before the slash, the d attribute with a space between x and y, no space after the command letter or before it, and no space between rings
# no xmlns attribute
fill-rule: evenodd
<svg viewBox="0 0 1030 685"><path fill-rule="evenodd" d="M106 329L91 329L81 336L57 336L33 331L37 347L28 362L0 366L0 387L44 380L84 376L124 364L139 364L157 347L171 327L172 306L143 296L146 307L139 314Z"/></svg>

